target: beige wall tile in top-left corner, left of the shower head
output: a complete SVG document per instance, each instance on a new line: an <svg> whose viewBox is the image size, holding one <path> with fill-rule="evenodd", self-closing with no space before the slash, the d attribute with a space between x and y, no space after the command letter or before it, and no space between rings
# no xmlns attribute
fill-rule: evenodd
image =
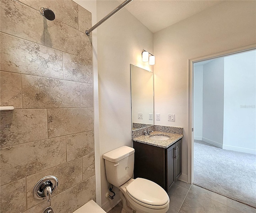
<svg viewBox="0 0 256 213"><path fill-rule="evenodd" d="M11 8L11 9L10 9ZM44 44L44 22L40 12L14 0L1 0L1 31Z"/></svg>

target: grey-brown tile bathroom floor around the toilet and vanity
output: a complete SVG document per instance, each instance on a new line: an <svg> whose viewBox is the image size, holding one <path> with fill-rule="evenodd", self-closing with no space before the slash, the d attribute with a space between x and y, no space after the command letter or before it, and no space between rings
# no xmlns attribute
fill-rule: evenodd
<svg viewBox="0 0 256 213"><path fill-rule="evenodd" d="M256 213L256 209L208 191L196 185L177 181L168 193L167 213ZM109 213L121 213L122 202Z"/></svg>

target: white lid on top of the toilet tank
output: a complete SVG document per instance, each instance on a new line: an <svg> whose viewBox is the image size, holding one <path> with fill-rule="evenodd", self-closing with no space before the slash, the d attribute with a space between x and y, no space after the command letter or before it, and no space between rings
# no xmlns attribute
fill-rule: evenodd
<svg viewBox="0 0 256 213"><path fill-rule="evenodd" d="M102 157L111 162L117 162L134 153L134 148L121 146L117 149L105 153Z"/></svg>

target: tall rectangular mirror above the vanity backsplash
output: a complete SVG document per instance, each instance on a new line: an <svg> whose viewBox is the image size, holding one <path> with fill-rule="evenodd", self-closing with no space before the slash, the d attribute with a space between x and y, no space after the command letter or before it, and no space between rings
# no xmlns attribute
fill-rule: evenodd
<svg viewBox="0 0 256 213"><path fill-rule="evenodd" d="M153 73L130 64L132 131L154 125Z"/></svg>

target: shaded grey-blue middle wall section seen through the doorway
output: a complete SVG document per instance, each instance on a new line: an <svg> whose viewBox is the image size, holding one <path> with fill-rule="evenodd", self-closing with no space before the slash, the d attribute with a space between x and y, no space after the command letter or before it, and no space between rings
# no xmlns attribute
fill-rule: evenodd
<svg viewBox="0 0 256 213"><path fill-rule="evenodd" d="M222 148L224 111L224 58L204 64L202 140Z"/></svg>

